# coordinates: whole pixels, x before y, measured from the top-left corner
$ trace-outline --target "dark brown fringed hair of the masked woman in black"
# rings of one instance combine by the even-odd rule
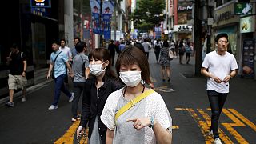
[[[117,74],[114,73],[114,70],[112,68],[111,64],[111,58],[110,58],[110,52],[109,50],[105,48],[96,48],[92,51],[90,51],[90,54],[88,55],[89,61],[94,58],[95,60],[101,60],[102,62],[109,61],[109,65],[106,66],[106,72],[104,78],[117,78]],[[90,74],[92,75],[92,74]]]

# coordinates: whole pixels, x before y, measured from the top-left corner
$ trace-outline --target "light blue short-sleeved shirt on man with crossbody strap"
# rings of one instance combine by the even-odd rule
[[[61,54],[58,54],[60,52],[61,51],[58,50],[50,54],[50,62],[54,64],[54,78],[57,78],[62,74],[66,74],[66,62],[68,62],[68,58],[63,52]],[[57,54],[58,57],[54,63],[54,59],[56,58]]]

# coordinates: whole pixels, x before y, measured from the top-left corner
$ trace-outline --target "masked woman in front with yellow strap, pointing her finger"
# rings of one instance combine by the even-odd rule
[[[126,85],[110,94],[101,119],[107,144],[171,143],[172,120],[162,96],[147,88],[150,70],[145,54],[128,47],[118,56],[116,70]]]

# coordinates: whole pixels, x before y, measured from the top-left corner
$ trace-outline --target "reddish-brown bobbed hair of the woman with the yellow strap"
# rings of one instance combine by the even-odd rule
[[[150,66],[146,58],[146,55],[135,46],[127,46],[125,50],[122,50],[119,54],[115,69],[119,75],[121,65],[138,65],[142,70],[142,80],[147,84],[152,83],[150,80]]]

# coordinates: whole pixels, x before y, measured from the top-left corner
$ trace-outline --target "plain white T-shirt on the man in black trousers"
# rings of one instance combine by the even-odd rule
[[[231,70],[238,69],[238,64],[233,54],[226,52],[224,55],[219,55],[214,50],[209,54],[206,54],[206,58],[202,62],[202,67],[208,69],[210,74],[214,74],[221,80],[226,75],[230,74]],[[229,82],[217,83],[214,78],[207,78],[207,90],[215,90],[218,93],[229,93]]]

